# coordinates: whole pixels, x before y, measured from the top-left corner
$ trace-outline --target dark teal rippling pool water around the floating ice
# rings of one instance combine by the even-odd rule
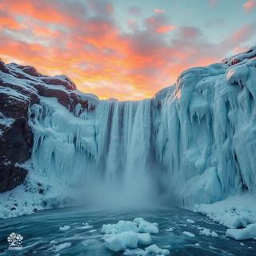
[[[102,241],[101,228],[106,223],[116,223],[119,220],[133,220],[136,217],[145,218],[149,222],[157,222],[159,234],[152,235],[153,243],[170,250],[170,255],[256,255],[256,241],[240,242],[226,238],[226,229],[211,222],[201,214],[179,208],[159,210],[130,210],[126,212],[114,210],[86,210],[84,208],[62,208],[43,210],[33,215],[11,218],[0,221],[0,254],[1,255],[68,255],[68,256],[118,256],[106,248]],[[194,220],[194,224],[186,219]],[[84,230],[82,223],[93,227]],[[70,230],[60,231],[60,226],[70,226]],[[198,226],[209,228],[218,234],[218,238],[199,234]],[[166,229],[172,227],[173,232]],[[96,230],[91,232],[90,230]],[[182,234],[189,231],[194,238]],[[23,236],[22,250],[8,250],[7,237],[15,232]],[[56,245],[70,242],[71,246],[56,251]],[[199,243],[199,245],[195,245]]]

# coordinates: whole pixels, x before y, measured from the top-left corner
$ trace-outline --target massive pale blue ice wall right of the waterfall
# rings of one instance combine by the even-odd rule
[[[164,101],[156,154],[178,203],[255,191],[256,70],[247,62],[186,70]]]

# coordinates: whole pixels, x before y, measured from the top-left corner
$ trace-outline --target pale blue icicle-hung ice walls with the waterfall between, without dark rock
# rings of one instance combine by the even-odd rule
[[[101,186],[99,197],[122,190],[126,201],[150,198],[154,190],[186,206],[253,193],[253,60],[186,70],[152,99],[98,101],[92,112],[76,106],[70,113],[41,97],[31,107],[33,164],[69,186]]]

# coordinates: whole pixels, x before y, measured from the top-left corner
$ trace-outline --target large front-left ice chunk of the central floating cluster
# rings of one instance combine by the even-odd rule
[[[124,231],[119,234],[106,234],[104,239],[107,248],[113,251],[137,248],[138,246],[138,236],[134,231]]]

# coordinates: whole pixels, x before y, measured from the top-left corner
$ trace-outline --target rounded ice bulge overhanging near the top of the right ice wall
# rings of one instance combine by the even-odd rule
[[[231,66],[226,71],[226,80],[230,84],[238,83],[244,85],[249,74],[249,68],[246,64]]]

